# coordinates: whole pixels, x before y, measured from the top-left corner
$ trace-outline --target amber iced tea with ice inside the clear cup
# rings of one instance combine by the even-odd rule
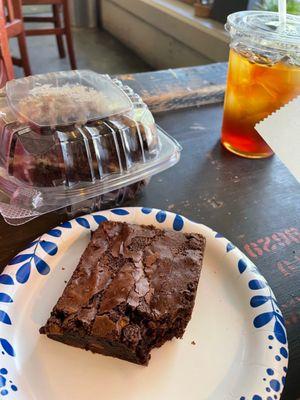
[[[223,145],[251,158],[273,154],[255,124],[300,95],[299,66],[257,61],[231,49],[222,128]]]

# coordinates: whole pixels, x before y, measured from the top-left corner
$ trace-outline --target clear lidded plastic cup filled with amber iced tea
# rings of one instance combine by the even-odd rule
[[[255,130],[263,120],[300,95],[300,16],[242,11],[228,16],[232,42],[224,103],[222,144],[248,158],[273,154]]]

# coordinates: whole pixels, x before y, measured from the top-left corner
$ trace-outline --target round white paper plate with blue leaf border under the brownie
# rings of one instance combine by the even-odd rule
[[[152,351],[148,367],[39,334],[105,219],[199,232],[207,248],[183,339]],[[30,274],[29,274],[30,273]],[[274,294],[221,235],[179,215],[122,208],[64,223],[31,243],[0,275],[0,394],[12,400],[279,399],[287,340]]]

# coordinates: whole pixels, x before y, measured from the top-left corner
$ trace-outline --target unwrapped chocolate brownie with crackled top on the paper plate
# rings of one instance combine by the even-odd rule
[[[148,364],[191,318],[205,238],[104,222],[40,332],[51,339]]]

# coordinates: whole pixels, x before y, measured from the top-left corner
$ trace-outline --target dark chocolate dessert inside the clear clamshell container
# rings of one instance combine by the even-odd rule
[[[147,135],[145,129],[124,116],[89,122],[80,128],[66,126],[53,130],[35,127],[23,132],[24,129],[16,127],[7,150],[8,173],[25,185],[41,189],[67,189],[100,182],[109,175],[129,171],[135,163],[144,163],[155,157],[159,145],[155,135]],[[151,136],[148,143],[147,137]],[[88,152],[83,137],[88,140]],[[68,143],[67,148],[64,148],[64,142]],[[122,205],[135,198],[145,185],[144,179],[62,211],[74,217]]]

